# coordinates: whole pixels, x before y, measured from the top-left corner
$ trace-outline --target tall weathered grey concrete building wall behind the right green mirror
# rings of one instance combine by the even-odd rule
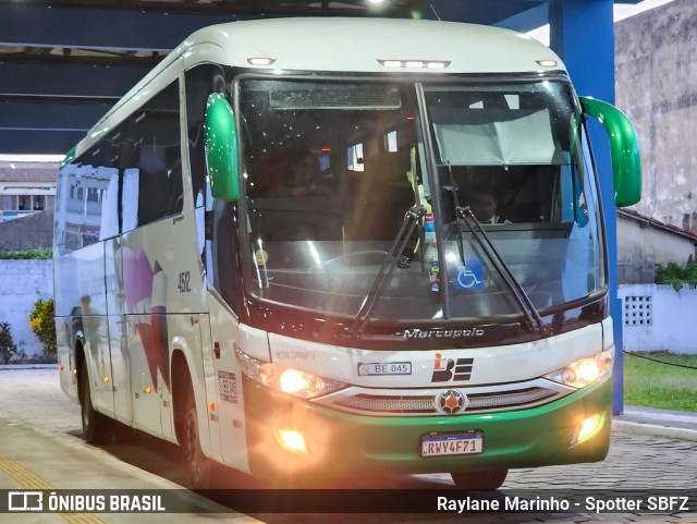
[[[634,209],[697,231],[697,2],[622,20],[614,41],[615,103],[641,142],[644,186]]]

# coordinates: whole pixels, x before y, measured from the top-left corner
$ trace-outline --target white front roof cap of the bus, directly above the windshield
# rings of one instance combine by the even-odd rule
[[[449,61],[442,70],[447,73],[549,71],[540,60],[564,69],[559,57],[527,35],[456,22],[268,19],[206,27],[184,44],[200,42],[224,48],[229,65],[249,66],[249,58],[270,58],[272,68],[295,71],[389,71],[380,60]]]

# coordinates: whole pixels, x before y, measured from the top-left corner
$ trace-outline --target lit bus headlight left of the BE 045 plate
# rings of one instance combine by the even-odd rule
[[[314,399],[346,387],[337,380],[254,358],[239,348],[235,348],[235,355],[242,373],[252,380],[302,399]]]

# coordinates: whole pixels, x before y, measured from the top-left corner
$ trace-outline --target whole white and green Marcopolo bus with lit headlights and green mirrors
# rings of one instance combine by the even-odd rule
[[[598,173],[613,107],[510,31],[377,19],[201,29],[68,155],[59,367],[114,421],[253,475],[602,460],[612,321]],[[609,174],[606,174],[609,175]]]

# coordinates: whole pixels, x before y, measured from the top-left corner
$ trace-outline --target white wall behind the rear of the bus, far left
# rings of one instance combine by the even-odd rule
[[[44,345],[29,326],[29,312],[39,296],[53,296],[52,260],[0,260],[0,321],[10,322],[12,339],[27,356]]]

